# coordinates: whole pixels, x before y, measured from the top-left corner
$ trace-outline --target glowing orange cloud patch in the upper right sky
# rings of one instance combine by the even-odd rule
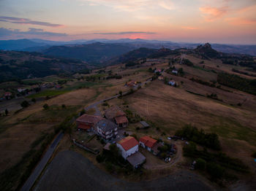
[[[216,20],[227,13],[227,7],[200,7],[199,9],[206,21]]]

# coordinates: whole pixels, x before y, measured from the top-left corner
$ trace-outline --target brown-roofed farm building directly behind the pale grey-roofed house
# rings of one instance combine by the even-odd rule
[[[109,109],[107,109],[105,112],[105,117],[108,120],[116,122],[120,128],[126,128],[128,126],[127,115],[118,106],[111,106]]]

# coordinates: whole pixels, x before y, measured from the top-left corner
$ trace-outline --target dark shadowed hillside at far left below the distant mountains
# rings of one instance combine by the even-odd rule
[[[54,58],[37,52],[0,51],[0,82],[86,70],[84,61]]]

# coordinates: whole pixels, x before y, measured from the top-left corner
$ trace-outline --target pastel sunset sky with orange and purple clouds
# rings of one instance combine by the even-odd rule
[[[0,0],[0,39],[256,44],[256,0]]]

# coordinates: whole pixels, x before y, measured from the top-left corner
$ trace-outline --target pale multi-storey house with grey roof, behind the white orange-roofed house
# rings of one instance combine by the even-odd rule
[[[114,122],[106,119],[100,120],[96,125],[97,134],[105,141],[116,139],[117,128],[118,126]]]

